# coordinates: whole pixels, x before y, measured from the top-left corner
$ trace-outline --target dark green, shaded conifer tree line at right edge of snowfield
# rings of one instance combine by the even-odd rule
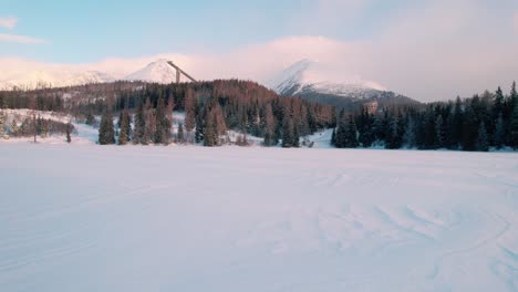
[[[470,98],[369,113],[340,112],[332,145],[338,148],[384,146],[387,149],[459,149],[487,152],[518,147],[518,94],[498,87]]]

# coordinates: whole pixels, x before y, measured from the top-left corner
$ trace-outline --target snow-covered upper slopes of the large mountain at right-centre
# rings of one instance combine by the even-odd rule
[[[268,86],[282,95],[317,92],[358,98],[385,91],[383,86],[373,81],[366,81],[310,60],[301,60],[287,67],[270,80]]]

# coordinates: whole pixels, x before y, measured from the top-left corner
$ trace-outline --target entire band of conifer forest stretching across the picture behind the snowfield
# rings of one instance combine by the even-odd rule
[[[64,88],[0,92],[2,108],[69,113],[99,127],[99,144],[229,144],[228,131],[262,138],[263,146],[311,147],[302,139],[332,129],[338,148],[480,150],[518,147],[516,83],[449,102],[345,111],[279,96],[248,81],[182,84],[115,82]],[[185,118],[172,132],[173,111]],[[114,118],[118,117],[118,118]],[[114,124],[114,121],[116,122]],[[44,127],[43,127],[44,128]],[[3,129],[11,132],[9,125]],[[18,129],[17,129],[18,131]],[[41,129],[40,129],[41,132]]]

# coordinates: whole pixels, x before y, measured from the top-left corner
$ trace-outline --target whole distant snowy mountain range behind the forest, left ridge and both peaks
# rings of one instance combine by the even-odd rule
[[[64,87],[116,80],[168,84],[176,81],[176,70],[167,64],[167,60],[162,59],[122,79],[99,71],[83,73],[32,71],[0,80],[0,90]],[[312,102],[352,111],[366,104],[375,108],[418,104],[410,97],[387,91],[376,82],[346,74],[343,70],[333,70],[311,60],[296,62],[273,76],[266,85],[280,95],[301,96]]]

